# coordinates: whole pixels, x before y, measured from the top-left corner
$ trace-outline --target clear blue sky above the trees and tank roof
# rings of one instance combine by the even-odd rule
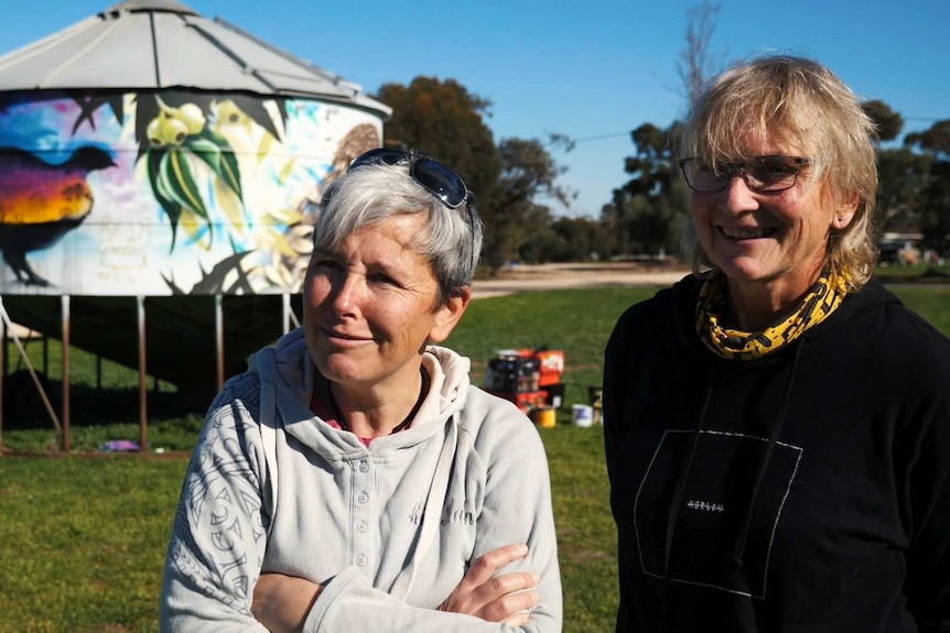
[[[557,214],[598,218],[626,182],[629,131],[666,127],[684,101],[677,61],[699,0],[185,0],[360,84],[454,78],[493,101],[496,140],[566,134],[552,155],[579,193]],[[3,0],[0,53],[110,8],[97,0]],[[863,98],[900,112],[905,132],[950,119],[947,0],[721,0],[712,50],[724,61],[762,52],[829,65]],[[476,192],[477,193],[477,192]]]

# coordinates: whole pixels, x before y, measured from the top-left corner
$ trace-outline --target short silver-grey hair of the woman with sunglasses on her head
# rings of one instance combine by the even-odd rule
[[[482,257],[482,219],[474,196],[451,209],[409,175],[409,164],[367,164],[336,178],[316,205],[314,250],[337,248],[355,231],[400,215],[425,214],[414,248],[439,282],[439,305],[472,285]]]

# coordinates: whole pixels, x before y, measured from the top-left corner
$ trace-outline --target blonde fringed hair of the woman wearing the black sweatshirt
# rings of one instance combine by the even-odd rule
[[[825,254],[832,271],[845,273],[859,290],[874,272],[874,205],[877,195],[877,139],[857,96],[830,69],[788,55],[753,58],[726,70],[693,101],[682,129],[681,159],[716,163],[741,155],[749,134],[801,146],[809,177],[828,185],[836,199],[856,196],[851,223],[832,231]],[[682,250],[693,271],[711,268],[691,220]]]

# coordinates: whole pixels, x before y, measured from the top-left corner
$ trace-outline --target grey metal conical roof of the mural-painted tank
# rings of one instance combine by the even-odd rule
[[[237,90],[352,103],[361,87],[176,0],[128,0],[0,57],[0,91]]]

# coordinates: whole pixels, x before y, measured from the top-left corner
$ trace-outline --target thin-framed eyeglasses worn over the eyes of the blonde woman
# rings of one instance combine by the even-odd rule
[[[683,159],[680,170],[694,192],[722,192],[733,178],[740,177],[753,192],[774,194],[794,187],[801,168],[809,163],[811,159],[799,156],[758,156],[745,163],[713,166],[704,159]]]

